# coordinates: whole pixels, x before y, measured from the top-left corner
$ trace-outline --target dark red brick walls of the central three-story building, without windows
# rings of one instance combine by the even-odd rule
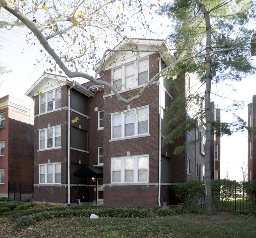
[[[160,55],[148,55],[148,75],[151,79],[159,72]],[[128,62],[127,62],[128,63]],[[112,69],[107,68],[104,71],[104,80],[111,83]],[[47,74],[42,80],[47,80]],[[37,85],[32,89],[30,96],[35,100],[35,131],[34,131],[34,155],[35,155],[35,201],[49,201],[52,203],[68,203],[68,92],[72,85],[72,81],[67,79],[61,84],[61,108],[49,111],[48,113],[39,114],[39,95],[36,95]],[[177,182],[185,182],[188,180],[200,180],[200,165],[204,165],[204,156],[200,153],[200,142],[195,142],[193,146],[189,146],[186,152],[179,155],[173,154],[173,148],[182,146],[187,141],[195,140],[197,131],[184,132],[178,138],[174,145],[167,145],[160,148],[160,101],[161,93],[164,93],[165,105],[163,110],[171,104],[172,100],[178,96],[180,92],[172,90],[173,95],[168,95],[164,90],[161,91],[159,81],[156,80],[149,85],[143,92],[139,100],[132,101],[126,105],[117,100],[115,95],[111,93],[108,87],[99,86],[98,89],[93,88],[91,82],[82,85],[84,89],[74,87],[71,89],[70,100],[72,102],[72,92],[80,91],[88,97],[88,114],[83,115],[77,113],[71,107],[70,118],[79,118],[78,122],[72,124],[76,127],[88,132],[88,151],[79,149],[70,149],[70,203],[75,203],[76,199],[84,204],[95,204],[96,180],[92,177],[79,177],[78,186],[77,178],[73,177],[75,168],[80,165],[89,165],[94,168],[104,168],[103,185],[104,205],[142,205],[152,207],[158,205],[169,206],[174,201],[171,186]],[[185,87],[185,84],[183,85]],[[56,87],[57,88],[57,87]],[[95,92],[95,95],[89,95],[88,89]],[[50,89],[49,89],[50,90]],[[84,90],[84,92],[83,92]],[[86,91],[87,90],[87,91]],[[184,89],[185,90],[185,89]],[[47,93],[47,90],[45,90]],[[137,90],[125,90],[121,92],[121,96],[129,98],[135,94]],[[72,104],[72,103],[71,103]],[[111,138],[111,114],[123,112],[129,109],[137,109],[139,107],[148,108],[148,133],[145,135],[137,135],[133,137]],[[162,109],[160,109],[162,110]],[[104,111],[104,127],[98,128],[98,115],[100,111]],[[180,120],[186,120],[186,115]],[[61,147],[51,149],[39,149],[39,131],[48,127],[61,126]],[[72,141],[72,138],[71,138]],[[98,164],[98,148],[104,148],[104,164]],[[161,151],[161,152],[160,152]],[[143,183],[114,183],[111,180],[111,160],[115,158],[139,157],[148,158],[147,175],[148,181]],[[190,171],[187,173],[187,159],[190,159]],[[160,166],[161,159],[161,169]],[[44,184],[39,181],[39,165],[49,163],[61,163],[61,183]],[[196,164],[198,163],[198,175],[196,174]],[[159,191],[159,176],[161,174],[161,188]],[[135,171],[136,172],[136,171]],[[160,192],[160,197],[159,197]],[[102,200],[98,199],[102,203]]]

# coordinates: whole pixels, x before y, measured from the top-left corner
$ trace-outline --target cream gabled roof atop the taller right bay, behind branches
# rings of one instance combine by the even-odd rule
[[[161,59],[165,62],[165,64],[168,66],[171,63],[173,63],[176,59],[169,50],[169,46],[165,42],[165,40],[155,40],[155,39],[124,39],[122,42],[120,42],[113,50],[141,50],[139,54],[139,57],[143,57],[146,54],[154,54],[154,52],[159,52]],[[127,59],[128,55],[131,55],[131,51],[126,51],[125,58]],[[98,70],[100,67],[100,75],[104,75],[104,70],[107,70],[108,68],[113,68],[113,59],[118,59],[122,55],[122,52],[109,52],[104,61],[104,66],[100,66],[100,62],[97,63],[93,69],[95,71]],[[133,53],[133,55],[135,55]],[[136,56],[137,57],[137,56]],[[111,65],[111,66],[110,66]]]

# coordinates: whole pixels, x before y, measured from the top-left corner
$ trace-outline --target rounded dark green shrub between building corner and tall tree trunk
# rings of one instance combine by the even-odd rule
[[[178,183],[173,187],[175,196],[178,197],[185,208],[194,207],[204,195],[204,184],[202,181],[187,181]]]

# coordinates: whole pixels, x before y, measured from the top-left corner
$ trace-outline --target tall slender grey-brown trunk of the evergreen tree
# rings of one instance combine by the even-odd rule
[[[206,25],[206,53],[211,52],[211,22],[210,12],[200,1],[196,1],[200,11],[204,14]],[[205,119],[206,119],[206,143],[205,143],[205,184],[206,184],[206,216],[213,216],[212,196],[211,196],[211,56],[205,57],[206,66],[206,89],[205,89]]]

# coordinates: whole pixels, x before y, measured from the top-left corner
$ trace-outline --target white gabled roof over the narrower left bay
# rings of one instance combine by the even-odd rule
[[[51,83],[54,82],[54,83]],[[54,85],[53,85],[54,84]],[[71,80],[67,76],[60,76],[56,74],[49,74],[44,72],[44,74],[34,83],[34,85],[25,93],[26,96],[33,97],[38,94],[37,91],[47,92],[49,91],[49,87],[60,87],[63,85],[72,86],[74,85],[74,89],[78,92],[81,92],[82,94],[91,97],[95,94],[91,92],[89,89],[83,87],[79,83],[76,83],[75,81]]]

